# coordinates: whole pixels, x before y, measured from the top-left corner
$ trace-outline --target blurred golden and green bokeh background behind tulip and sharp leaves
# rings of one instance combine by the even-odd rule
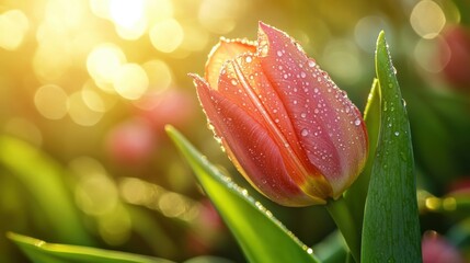
[[[295,37],[362,110],[386,31],[411,118],[422,230],[434,237],[423,244],[470,259],[470,213],[456,209],[470,199],[469,1],[2,0],[0,262],[26,261],[7,231],[244,262],[165,124],[306,244],[325,238],[334,225],[323,207],[279,207],[240,180],[187,77],[204,73],[220,36],[255,39],[257,21]]]

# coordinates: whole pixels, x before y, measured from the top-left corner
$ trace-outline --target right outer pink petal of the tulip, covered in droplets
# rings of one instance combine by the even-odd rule
[[[310,162],[339,195],[355,180],[367,156],[360,113],[313,59],[285,33],[260,23],[259,55],[285,105]]]

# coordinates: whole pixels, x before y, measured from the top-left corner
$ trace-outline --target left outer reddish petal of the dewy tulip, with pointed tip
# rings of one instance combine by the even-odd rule
[[[293,170],[289,167],[291,163],[285,163],[283,151],[263,125],[237,103],[211,90],[204,79],[194,77],[194,80],[200,103],[216,135],[220,137],[234,165],[253,186],[283,205],[325,203],[325,196],[321,196],[323,193],[316,193],[314,197],[303,194],[294,181],[293,173],[287,172]]]

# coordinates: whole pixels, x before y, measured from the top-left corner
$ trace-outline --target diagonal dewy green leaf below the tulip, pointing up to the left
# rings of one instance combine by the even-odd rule
[[[249,262],[318,262],[260,202],[210,164],[176,129],[167,126],[204,191],[232,231]]]

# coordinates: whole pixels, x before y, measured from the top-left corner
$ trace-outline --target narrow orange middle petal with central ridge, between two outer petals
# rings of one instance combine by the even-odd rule
[[[309,162],[298,144],[286,108],[262,71],[259,57],[243,54],[227,61],[218,87],[218,92],[256,119],[278,146],[284,146],[284,162],[296,171],[290,172],[290,176],[306,193],[331,195],[330,184],[317,167]]]

